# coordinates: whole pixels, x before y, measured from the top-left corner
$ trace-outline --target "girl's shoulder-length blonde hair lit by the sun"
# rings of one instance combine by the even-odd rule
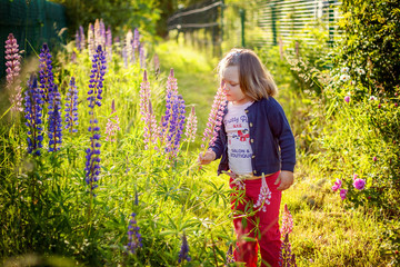
[[[232,49],[218,65],[219,78],[228,67],[239,67],[239,83],[242,92],[254,101],[278,93],[272,76],[250,49]]]

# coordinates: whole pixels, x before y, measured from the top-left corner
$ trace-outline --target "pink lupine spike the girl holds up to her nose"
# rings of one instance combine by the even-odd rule
[[[227,97],[224,96],[222,88],[223,86],[221,83],[214,96],[207,127],[203,132],[203,144],[201,145],[201,148],[207,148],[206,145],[212,146],[217,140],[218,131],[222,123],[223,110],[227,106]]]

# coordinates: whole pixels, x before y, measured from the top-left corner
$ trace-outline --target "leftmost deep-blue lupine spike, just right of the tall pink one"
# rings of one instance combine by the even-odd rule
[[[28,81],[28,90],[24,92],[24,118],[28,130],[28,152],[40,156],[40,148],[42,147],[42,105],[43,99],[38,88],[38,79],[31,75]]]

